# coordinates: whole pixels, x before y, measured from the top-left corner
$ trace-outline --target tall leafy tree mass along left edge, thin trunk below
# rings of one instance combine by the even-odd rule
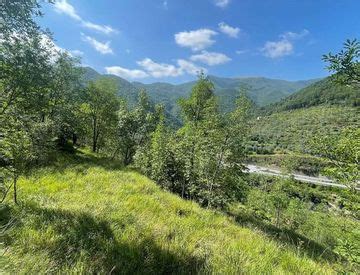
[[[37,1],[5,1],[1,14],[0,169],[1,178],[10,171],[16,201],[17,178],[44,162],[57,137],[71,128],[66,118],[76,102],[78,74],[75,61],[57,52],[35,22]]]

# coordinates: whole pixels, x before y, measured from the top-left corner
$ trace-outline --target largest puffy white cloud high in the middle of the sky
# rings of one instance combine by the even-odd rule
[[[193,51],[203,50],[215,43],[212,39],[217,32],[209,29],[183,31],[175,34],[175,41],[182,47],[191,48]]]

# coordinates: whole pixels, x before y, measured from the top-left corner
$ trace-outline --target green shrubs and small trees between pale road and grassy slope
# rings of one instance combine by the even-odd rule
[[[348,271],[356,273],[360,248],[356,194],[265,176],[252,176],[249,182],[253,186],[244,207],[235,204],[230,209],[243,225],[287,240],[310,255],[345,259]]]

